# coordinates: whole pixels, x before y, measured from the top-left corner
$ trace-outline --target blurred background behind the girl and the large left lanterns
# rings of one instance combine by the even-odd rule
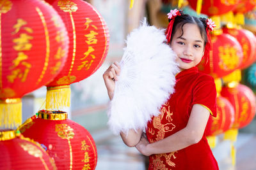
[[[218,120],[209,120],[207,132],[220,169],[256,169],[256,1],[202,1],[201,10],[196,9],[197,1],[192,0],[134,0],[131,9],[131,1],[128,0],[87,2],[99,11],[108,25],[108,55],[102,66],[90,77],[70,85],[71,106],[64,110],[71,120],[83,125],[92,134],[98,153],[97,170],[147,169],[147,157],[143,157],[135,148],[125,146],[120,136],[114,136],[108,129],[109,98],[102,74],[111,63],[120,61],[127,34],[140,25],[143,17],[147,17],[150,25],[166,28],[166,14],[178,5],[184,13],[212,18],[217,25],[216,32],[212,34],[214,59],[209,61],[209,70],[204,67],[201,70],[214,76],[219,89],[218,114],[227,115],[218,117]],[[199,12],[196,13],[196,10]],[[247,37],[244,32],[237,32],[241,29],[250,31]],[[225,37],[226,40],[223,40],[223,34],[233,38],[228,35],[229,39]],[[241,50],[240,53],[233,49],[235,45],[241,45],[237,48]],[[241,53],[247,58],[243,59]],[[243,94],[246,91],[241,87],[243,85],[253,97]],[[237,91],[230,92],[230,89]],[[45,93],[46,87],[42,87],[22,97],[22,122],[45,108]],[[234,96],[241,102],[234,101]]]

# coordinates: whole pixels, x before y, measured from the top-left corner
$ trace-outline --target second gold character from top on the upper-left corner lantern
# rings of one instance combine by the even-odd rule
[[[30,50],[32,47],[32,44],[29,43],[30,39],[33,39],[33,36],[24,33],[20,34],[19,38],[13,39],[13,43],[16,44],[13,48],[17,51]]]

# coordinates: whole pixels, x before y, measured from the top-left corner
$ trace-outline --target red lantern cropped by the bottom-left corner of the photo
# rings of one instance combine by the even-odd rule
[[[38,143],[14,131],[0,131],[0,153],[0,169],[56,169]]]

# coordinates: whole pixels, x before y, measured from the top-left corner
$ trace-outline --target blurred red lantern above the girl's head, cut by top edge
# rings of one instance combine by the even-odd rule
[[[234,1],[222,1],[222,0],[203,0],[202,1],[202,10],[201,13],[206,15],[221,15],[223,13],[227,13],[228,11],[232,11],[236,8],[237,4],[240,3],[241,0]],[[198,0],[188,0],[191,8],[196,10]]]

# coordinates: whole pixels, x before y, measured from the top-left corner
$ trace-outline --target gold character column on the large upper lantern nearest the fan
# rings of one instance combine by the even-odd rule
[[[91,23],[93,22],[90,18],[85,18],[86,22],[84,23],[85,25],[85,30],[92,28],[90,30],[90,33],[84,35],[86,37],[86,44],[88,45],[88,50],[84,52],[84,57],[81,58],[82,60],[81,64],[77,67],[77,70],[85,69],[88,70],[92,66],[93,60],[95,59],[95,55],[93,55],[93,52],[95,51],[92,45],[96,45],[98,39],[96,36],[99,34],[97,32],[97,27],[95,25],[92,25]],[[90,56],[90,57],[89,57]]]

